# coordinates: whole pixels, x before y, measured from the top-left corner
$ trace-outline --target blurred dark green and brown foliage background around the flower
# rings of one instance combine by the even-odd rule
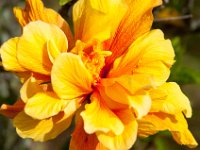
[[[43,0],[46,7],[59,11],[67,20],[73,0]],[[13,15],[13,7],[24,6],[24,0],[0,0],[0,45],[11,37],[19,36],[21,29]],[[65,5],[64,5],[65,4]],[[67,11],[69,10],[69,11]],[[175,53],[169,81],[178,82],[189,97],[193,116],[188,119],[189,129],[200,143],[200,0],[165,0],[154,10],[152,28],[160,28],[171,39]],[[0,66],[0,105],[13,104],[19,97],[21,84],[18,78]],[[178,105],[178,104],[177,104]],[[11,120],[0,115],[0,150],[66,150],[70,133],[64,132],[55,140],[45,143],[21,139],[17,136]],[[132,150],[187,150],[176,144],[165,131],[146,139],[138,139]],[[200,146],[195,148],[200,150]]]

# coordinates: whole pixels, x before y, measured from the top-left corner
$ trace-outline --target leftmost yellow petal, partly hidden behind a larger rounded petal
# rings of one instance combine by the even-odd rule
[[[3,67],[7,71],[23,72],[26,71],[17,60],[17,43],[19,38],[12,38],[5,42],[0,49]]]

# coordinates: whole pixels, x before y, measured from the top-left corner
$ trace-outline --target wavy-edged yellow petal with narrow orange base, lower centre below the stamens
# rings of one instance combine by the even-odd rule
[[[86,133],[92,134],[97,131],[112,132],[119,135],[124,126],[120,119],[102,103],[98,93],[93,93],[91,103],[86,104],[85,111],[81,113]]]

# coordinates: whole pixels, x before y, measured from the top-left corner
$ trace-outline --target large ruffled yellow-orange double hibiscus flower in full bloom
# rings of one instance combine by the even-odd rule
[[[55,138],[76,113],[73,150],[129,149],[138,135],[162,130],[195,147],[182,114],[191,117],[189,100],[176,83],[166,83],[174,63],[171,42],[162,31],[150,31],[152,9],[160,4],[79,0],[73,42],[58,14],[27,0],[24,10],[15,9],[23,34],[6,42],[1,55],[5,69],[31,76],[21,89],[23,104],[3,105],[0,112],[11,114],[21,137],[37,141]]]

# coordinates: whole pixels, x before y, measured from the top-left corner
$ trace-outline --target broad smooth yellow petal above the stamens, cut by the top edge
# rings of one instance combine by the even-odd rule
[[[126,8],[122,0],[79,0],[73,7],[75,39],[87,43],[110,38]]]

